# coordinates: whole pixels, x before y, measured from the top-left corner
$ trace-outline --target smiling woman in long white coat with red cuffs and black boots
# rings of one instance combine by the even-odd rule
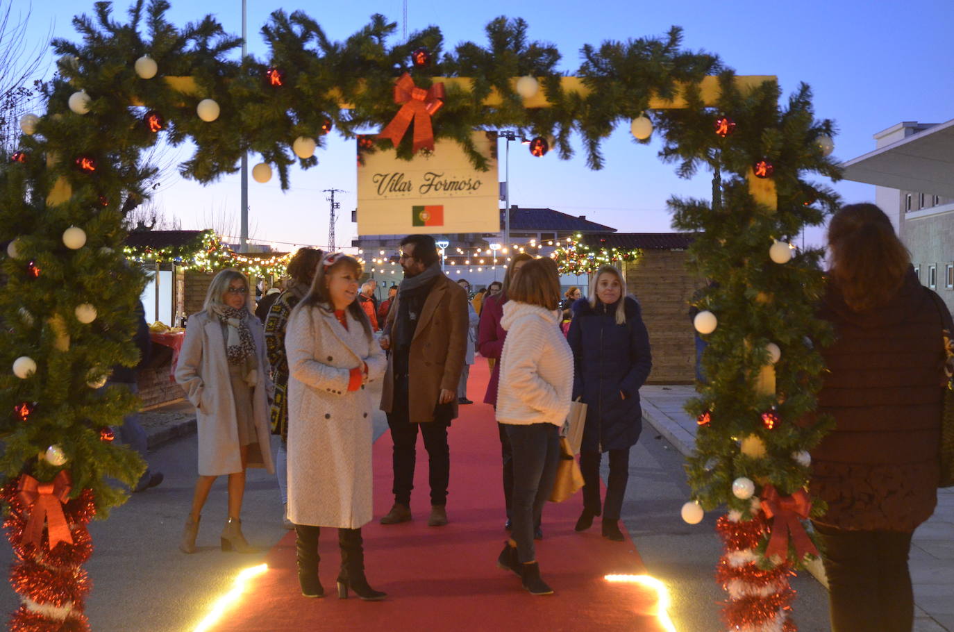
[[[288,519],[295,523],[301,594],[321,597],[318,538],[337,527],[338,597],[384,593],[364,578],[361,528],[370,522],[372,413],[365,386],[386,361],[358,296],[362,267],[333,253],[296,305],[285,332],[288,355]]]

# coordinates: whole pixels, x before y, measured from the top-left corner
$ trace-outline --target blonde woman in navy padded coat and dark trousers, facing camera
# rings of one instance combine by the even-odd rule
[[[624,295],[623,275],[604,265],[593,276],[590,298],[573,305],[567,341],[573,349],[573,399],[582,397],[587,421],[580,449],[583,513],[576,531],[603,516],[603,536],[622,541],[619,514],[630,476],[630,448],[642,430],[639,388],[653,368],[650,338],[639,304]],[[610,453],[606,503],[599,497],[599,464]]]

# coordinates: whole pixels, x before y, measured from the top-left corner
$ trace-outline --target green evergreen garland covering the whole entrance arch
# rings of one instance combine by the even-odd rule
[[[7,286],[0,293],[0,367],[11,367],[24,355],[38,367],[27,379],[0,371],[0,411],[8,411],[0,416],[0,473],[8,480],[24,472],[50,480],[66,468],[73,497],[90,490],[86,494],[92,494],[98,515],[105,516],[124,498],[107,477],[132,485],[143,471],[135,453],[102,441],[98,432],[135,410],[135,397],[118,390],[99,393],[87,384],[114,365],[134,366],[138,360],[131,315],[144,275],[123,261],[120,249],[122,209],[128,200],[148,197],[143,183],[156,173],[143,158],[158,137],[143,122],[146,112],[165,119],[159,134],[171,144],[194,142],[195,154],[180,165],[184,177],[214,181],[237,171],[241,155],[253,152],[277,167],[281,186],[287,188],[289,166],[318,163],[316,157],[294,155],[291,145],[297,137],[314,137],[321,147],[329,123],[344,137],[383,128],[400,109],[393,86],[406,72],[425,89],[434,77],[471,78],[469,90],[446,84],[444,107],[433,117],[433,126],[435,138],[456,140],[479,168],[486,169],[487,162],[471,144],[474,129],[508,127],[523,136],[553,137],[561,158],[572,155],[570,140],[577,133],[588,164],[598,169],[602,140],[621,121],[645,114],[663,139],[661,158],[677,163],[681,176],[700,168],[714,171],[712,203],[670,202],[675,226],[699,233],[690,249],[692,263],[714,282],[696,304],[714,311],[719,320],[706,337],[709,382],[699,387],[699,397],[688,407],[693,414],[709,411],[710,419],[699,429],[695,454],[687,462],[693,495],[706,509],[727,505],[738,524],[746,524],[749,518],[764,518],[750,501],[732,495],[736,477],[771,484],[781,495],[804,486],[809,473],[794,454],[817,444],[829,423],[812,416],[823,370],[817,348],[830,338],[812,311],[823,283],[821,253],[799,252],[790,263],[777,264],[769,260],[768,249],[774,240],[790,241],[805,226],[819,224],[839,202],[827,186],[807,179],[812,174],[839,177],[816,142],[819,135],[834,135],[833,124],[815,119],[807,86],[799,87],[784,107],[778,105],[780,91],[773,81],[740,91],[733,71],[715,55],[683,51],[681,31],[675,27],[663,38],[585,46],[576,75],[591,92],[580,95],[561,87],[560,53],[550,44],[530,41],[520,19],[492,21],[487,46],[466,42],[445,51],[436,27],[389,45],[396,25],[374,15],[361,31],[333,42],[301,11],[275,11],[261,30],[269,45],[267,58],[235,60],[231,57],[239,38],[225,33],[212,16],[177,29],[165,19],[168,9],[165,0],[148,5],[137,0],[129,21],[120,23],[110,3],[98,2],[92,17],[75,18],[82,42],[53,42],[63,57],[58,74],[43,85],[46,112],[36,134],[20,140],[25,161],[0,157],[0,241],[15,239],[17,251],[16,258],[2,263]],[[433,59],[423,68],[410,64],[410,53],[420,48]],[[135,74],[134,62],[143,54],[156,60],[155,78]],[[283,85],[265,80],[270,69],[283,72]],[[721,95],[716,108],[706,107],[695,82],[715,73]],[[524,107],[511,85],[521,75],[538,77],[550,107]],[[180,92],[182,82],[176,77],[191,77],[196,89]],[[688,107],[648,111],[653,95],[670,97],[680,89]],[[67,107],[78,90],[92,99],[86,115]],[[500,102],[488,105],[487,97],[494,93]],[[204,98],[214,98],[220,106],[213,122],[196,114]],[[350,109],[342,109],[342,103]],[[737,121],[735,134],[714,133],[719,114]],[[412,156],[410,136],[397,147],[401,158]],[[365,152],[390,144],[363,139]],[[77,158],[93,158],[96,170],[77,170]],[[759,205],[750,194],[752,165],[763,158],[775,165],[778,210]],[[69,200],[48,205],[48,196],[64,182],[72,189]],[[62,242],[63,231],[72,225],[82,227],[88,238],[77,250]],[[34,277],[37,268],[39,276]],[[87,303],[98,310],[91,325],[74,316],[75,307]],[[70,336],[66,350],[64,333]],[[768,363],[769,342],[781,348],[778,384],[775,393],[761,394],[757,383]],[[14,411],[23,402],[35,403],[26,420]],[[768,430],[761,414],[772,407],[778,423]],[[750,435],[762,439],[766,456],[740,452],[738,441]],[[63,449],[65,466],[37,458],[51,445]],[[813,512],[822,509],[816,504]],[[789,561],[798,562],[796,558],[792,554]],[[764,558],[757,562],[770,563]]]

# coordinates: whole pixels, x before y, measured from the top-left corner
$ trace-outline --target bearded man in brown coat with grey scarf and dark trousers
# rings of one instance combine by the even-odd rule
[[[401,242],[404,281],[387,314],[383,348],[391,353],[381,410],[394,441],[394,506],[382,524],[411,519],[418,427],[430,466],[431,512],[427,524],[447,523],[450,451],[447,428],[457,416],[457,384],[467,352],[467,292],[441,271],[429,235]],[[414,370],[411,370],[414,369]]]

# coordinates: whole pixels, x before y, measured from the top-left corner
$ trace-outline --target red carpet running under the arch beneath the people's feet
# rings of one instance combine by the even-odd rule
[[[487,387],[487,361],[470,370],[470,398]],[[384,526],[393,502],[391,441],[385,433],[374,447],[375,520],[363,529],[368,580],[387,600],[365,602],[335,596],[339,554],[337,532],[321,534],[321,583],[325,598],[301,597],[295,570],[295,535],[283,537],[267,558],[269,570],[215,627],[224,632],[293,630],[626,630],[662,631],[654,616],[655,590],[610,583],[610,573],[641,574],[633,542],[611,542],[597,519],[585,534],[573,532],[582,507],[580,493],[544,508],[544,539],[537,541],[543,577],[555,590],[529,595],[512,573],[496,567],[506,538],[501,491],[500,442],[493,409],[461,407],[450,428],[450,489],[445,527],[428,527],[427,456],[418,442],[414,520]]]

